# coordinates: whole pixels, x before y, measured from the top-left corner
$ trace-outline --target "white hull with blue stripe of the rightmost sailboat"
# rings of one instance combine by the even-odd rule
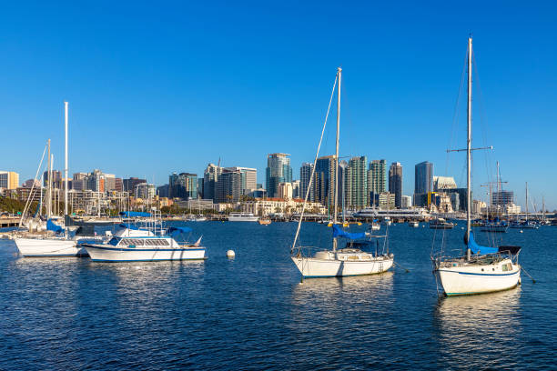
[[[441,267],[439,276],[446,296],[474,295],[508,290],[521,283],[521,266],[512,265],[511,270],[502,271],[505,259],[492,265]]]

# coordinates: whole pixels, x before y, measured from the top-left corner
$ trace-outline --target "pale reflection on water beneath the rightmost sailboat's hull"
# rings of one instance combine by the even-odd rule
[[[434,313],[444,366],[512,367],[522,332],[521,289],[478,296],[445,297]],[[504,363],[496,354],[508,355]]]

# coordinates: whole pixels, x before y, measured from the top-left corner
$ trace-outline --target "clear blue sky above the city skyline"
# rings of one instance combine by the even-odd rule
[[[33,177],[48,137],[63,167],[67,100],[71,173],[160,185],[220,157],[264,183],[266,155],[286,152],[298,178],[342,65],[342,155],[399,161],[406,195],[424,160],[461,183],[463,156],[447,163],[445,149],[463,145],[465,113],[456,131],[452,116],[473,33],[475,145],[495,147],[476,156],[476,193],[499,160],[521,204],[528,181],[557,208],[556,6],[387,3],[4,3],[0,169]],[[323,154],[333,148],[331,126]]]

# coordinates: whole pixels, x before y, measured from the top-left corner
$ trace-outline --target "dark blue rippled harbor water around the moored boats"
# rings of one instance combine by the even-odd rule
[[[24,259],[0,240],[0,369],[555,367],[557,227],[504,236],[536,284],[438,300],[427,227],[390,227],[410,273],[300,283],[295,224],[191,226],[205,262]],[[302,231],[314,245],[330,234]],[[460,248],[461,226],[445,237]]]

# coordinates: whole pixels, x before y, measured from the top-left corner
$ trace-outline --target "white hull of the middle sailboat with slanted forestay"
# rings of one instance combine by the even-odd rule
[[[386,272],[393,264],[393,258],[383,256],[376,260],[357,262],[299,256],[292,256],[292,260],[306,278],[374,275]]]

